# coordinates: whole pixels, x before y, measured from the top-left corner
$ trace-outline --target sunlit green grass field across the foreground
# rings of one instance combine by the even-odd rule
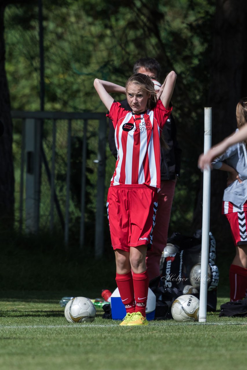
[[[1,370],[246,369],[246,318],[122,327],[98,310],[93,323],[70,324],[62,294],[0,292]]]

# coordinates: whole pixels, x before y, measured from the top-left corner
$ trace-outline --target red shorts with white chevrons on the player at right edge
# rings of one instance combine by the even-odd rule
[[[247,244],[247,211],[227,213],[235,246]]]

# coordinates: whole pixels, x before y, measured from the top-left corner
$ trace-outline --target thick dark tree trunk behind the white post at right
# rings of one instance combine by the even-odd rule
[[[247,1],[218,0],[215,16],[214,45],[209,105],[212,107],[212,145],[231,134],[236,128],[236,105],[247,95]],[[230,228],[221,215],[227,174],[211,172],[210,229],[220,248],[229,245]],[[202,221],[202,181],[194,213],[194,226]],[[230,239],[229,239],[230,238]]]

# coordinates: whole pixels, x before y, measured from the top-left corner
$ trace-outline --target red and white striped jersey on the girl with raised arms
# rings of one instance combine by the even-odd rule
[[[142,114],[126,111],[113,102],[107,117],[115,128],[118,149],[112,185],[146,184],[160,188],[160,142],[159,134],[171,114],[160,100],[152,110]]]

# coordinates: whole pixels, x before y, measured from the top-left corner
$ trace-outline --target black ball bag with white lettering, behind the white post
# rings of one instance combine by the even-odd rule
[[[216,262],[216,245],[214,236],[209,235],[208,295],[207,310],[215,311],[217,305],[217,287],[219,271]],[[167,240],[161,257],[161,282],[164,288],[177,288],[183,294],[192,294],[199,298],[201,282],[201,230],[193,236],[173,233]]]

